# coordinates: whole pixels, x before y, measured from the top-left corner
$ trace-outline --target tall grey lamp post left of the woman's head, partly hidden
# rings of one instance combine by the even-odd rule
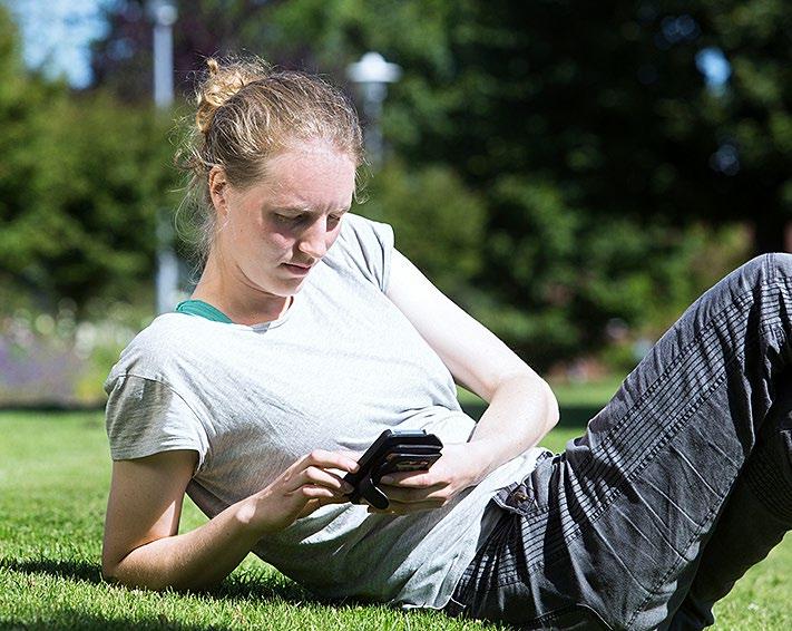
[[[164,111],[174,103],[173,26],[178,12],[174,0],[148,0],[148,14],[154,22],[154,104]],[[166,208],[158,208],[157,272],[155,278],[157,313],[173,309],[178,290],[178,259],[173,250],[173,227]]]

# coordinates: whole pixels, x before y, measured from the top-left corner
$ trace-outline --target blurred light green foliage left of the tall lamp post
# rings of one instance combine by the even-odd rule
[[[168,122],[119,107],[104,93],[26,74],[8,17],[0,11],[0,276],[6,308],[22,292],[41,309],[68,297],[146,291],[154,213],[172,203]]]

